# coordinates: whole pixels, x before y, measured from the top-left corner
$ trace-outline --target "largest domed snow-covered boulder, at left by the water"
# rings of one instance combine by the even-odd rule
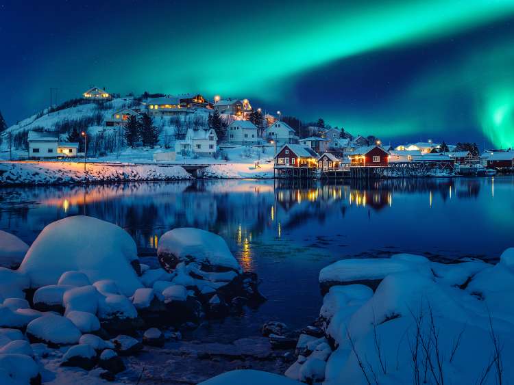
[[[19,271],[34,288],[57,284],[66,271],[79,271],[90,282],[113,280],[125,295],[142,287],[136,243],[119,226],[81,215],[43,228]]]

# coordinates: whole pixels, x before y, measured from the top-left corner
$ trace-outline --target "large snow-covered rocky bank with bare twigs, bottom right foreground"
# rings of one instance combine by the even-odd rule
[[[473,384],[494,354],[492,325],[501,341],[503,379],[514,378],[506,364],[514,360],[513,262],[514,249],[496,265],[473,259],[443,264],[408,254],[334,263],[323,269],[320,283],[345,286],[330,287],[319,321],[335,350],[302,347],[306,357],[299,356],[287,374],[326,385],[423,383],[423,373],[428,383],[437,377],[439,383]],[[375,292],[348,284],[368,280],[380,281]],[[434,373],[425,371],[429,361]],[[497,381],[493,364],[482,383]]]

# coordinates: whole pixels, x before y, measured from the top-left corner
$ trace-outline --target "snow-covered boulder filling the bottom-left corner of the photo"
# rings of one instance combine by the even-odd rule
[[[39,366],[25,354],[0,354],[0,384],[40,383]]]

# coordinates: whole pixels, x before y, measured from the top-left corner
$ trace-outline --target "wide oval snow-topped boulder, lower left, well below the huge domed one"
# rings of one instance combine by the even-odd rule
[[[30,321],[27,337],[32,342],[48,345],[71,345],[78,343],[82,333],[73,322],[60,315],[47,314]]]

